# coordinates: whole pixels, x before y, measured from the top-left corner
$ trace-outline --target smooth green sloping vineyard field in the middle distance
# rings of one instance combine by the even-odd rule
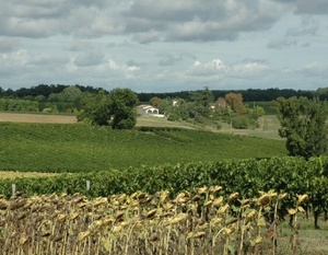
[[[0,123],[0,170],[36,172],[286,154],[282,140],[194,129],[110,130],[83,124]]]

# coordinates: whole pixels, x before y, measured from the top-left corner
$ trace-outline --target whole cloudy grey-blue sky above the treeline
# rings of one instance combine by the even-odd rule
[[[0,86],[328,86],[328,0],[0,0]]]

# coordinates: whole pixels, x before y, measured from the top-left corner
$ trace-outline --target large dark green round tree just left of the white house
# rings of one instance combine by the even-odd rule
[[[137,123],[137,94],[129,89],[115,89],[109,94],[101,91],[85,101],[78,119],[87,118],[93,125],[110,126],[114,129],[130,129]]]

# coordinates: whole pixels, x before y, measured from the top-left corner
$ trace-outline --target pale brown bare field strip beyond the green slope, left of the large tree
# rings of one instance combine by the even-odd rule
[[[77,121],[77,117],[46,114],[0,113],[0,121],[73,124]]]

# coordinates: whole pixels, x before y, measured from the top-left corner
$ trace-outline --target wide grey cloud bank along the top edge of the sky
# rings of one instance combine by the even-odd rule
[[[42,38],[129,35],[151,42],[236,39],[271,27],[284,4],[272,0],[24,0],[2,1],[0,34]]]

